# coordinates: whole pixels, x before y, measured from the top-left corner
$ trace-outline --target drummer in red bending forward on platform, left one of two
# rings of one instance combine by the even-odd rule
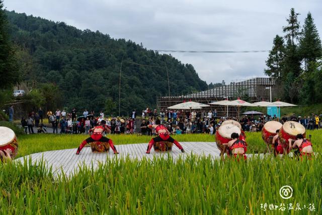
[[[93,132],[92,135],[82,142],[81,146],[79,146],[77,149],[76,155],[79,155],[79,153],[82,151],[82,149],[85,147],[86,144],[89,144],[90,142],[95,142],[95,141],[108,142],[114,154],[119,154],[116,151],[115,146],[113,145],[112,139],[109,139],[102,135],[104,131],[107,133],[111,133],[111,130],[107,127],[107,125],[105,125],[105,123],[106,123],[105,120],[102,120],[101,125],[96,126],[89,130],[90,133]]]

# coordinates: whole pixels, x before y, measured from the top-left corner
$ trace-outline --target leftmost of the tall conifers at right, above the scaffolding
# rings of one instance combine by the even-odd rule
[[[284,56],[285,46],[283,37],[276,35],[273,41],[273,48],[268,55],[268,59],[266,60],[268,69],[265,69],[264,73],[279,81],[282,75]]]

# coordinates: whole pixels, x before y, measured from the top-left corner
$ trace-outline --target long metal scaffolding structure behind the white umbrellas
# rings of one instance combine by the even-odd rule
[[[208,104],[214,101],[234,100],[238,97],[248,102],[270,101],[270,91],[266,88],[272,87],[272,94],[275,90],[275,81],[271,78],[253,78],[240,82],[232,82],[229,85],[223,85],[207,91],[193,93],[185,96],[162,96],[156,98],[158,110],[166,110],[172,105],[176,105],[185,101],[194,101]],[[235,107],[226,107],[220,105],[211,105],[205,107],[198,112],[208,112],[209,110],[217,111],[217,116],[226,116],[228,108],[228,116],[237,116]]]

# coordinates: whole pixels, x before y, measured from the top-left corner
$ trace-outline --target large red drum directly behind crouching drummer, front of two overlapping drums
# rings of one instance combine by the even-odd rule
[[[240,135],[240,128],[233,124],[222,124],[216,131],[216,144],[221,152],[224,149],[222,144],[227,144],[231,140],[232,133],[238,133],[238,135]]]

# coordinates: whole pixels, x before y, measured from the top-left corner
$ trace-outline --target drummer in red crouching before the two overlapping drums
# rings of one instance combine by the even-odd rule
[[[231,134],[231,139],[227,144],[222,144],[222,145],[227,145],[229,148],[230,154],[237,158],[238,156],[238,161],[239,157],[244,157],[244,160],[247,160],[247,157],[245,155],[247,151],[247,144],[244,140],[239,139],[238,133],[232,133]]]

